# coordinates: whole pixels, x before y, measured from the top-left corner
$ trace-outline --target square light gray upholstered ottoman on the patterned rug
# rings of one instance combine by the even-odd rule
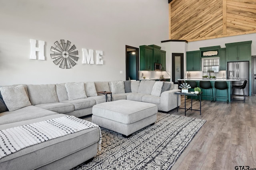
[[[155,104],[117,100],[92,107],[92,122],[129,137],[132,133],[154,124],[158,108]]]

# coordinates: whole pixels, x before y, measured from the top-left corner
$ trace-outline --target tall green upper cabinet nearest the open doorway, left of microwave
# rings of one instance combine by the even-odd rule
[[[153,70],[153,48],[140,46],[140,70]]]

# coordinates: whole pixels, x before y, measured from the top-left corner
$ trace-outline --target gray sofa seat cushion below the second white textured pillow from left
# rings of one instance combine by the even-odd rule
[[[96,101],[93,98],[83,98],[76,100],[64,100],[62,103],[69,103],[74,105],[75,110],[84,109],[87,107],[92,107],[96,104]]]

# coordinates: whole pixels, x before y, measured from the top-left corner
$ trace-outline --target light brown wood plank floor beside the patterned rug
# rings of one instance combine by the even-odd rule
[[[197,108],[199,102],[193,100],[193,109]],[[184,116],[184,109],[169,113]],[[202,115],[199,111],[188,111],[186,116],[204,119],[206,123],[172,170],[235,170],[235,166],[249,166],[256,170],[255,96],[246,97],[245,103],[202,100]]]

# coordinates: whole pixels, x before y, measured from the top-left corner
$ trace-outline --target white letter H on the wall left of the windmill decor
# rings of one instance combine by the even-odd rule
[[[38,41],[38,47],[36,47],[36,39],[30,39],[30,59],[36,60],[36,51],[39,53],[38,60],[45,60],[44,57],[44,41]]]

